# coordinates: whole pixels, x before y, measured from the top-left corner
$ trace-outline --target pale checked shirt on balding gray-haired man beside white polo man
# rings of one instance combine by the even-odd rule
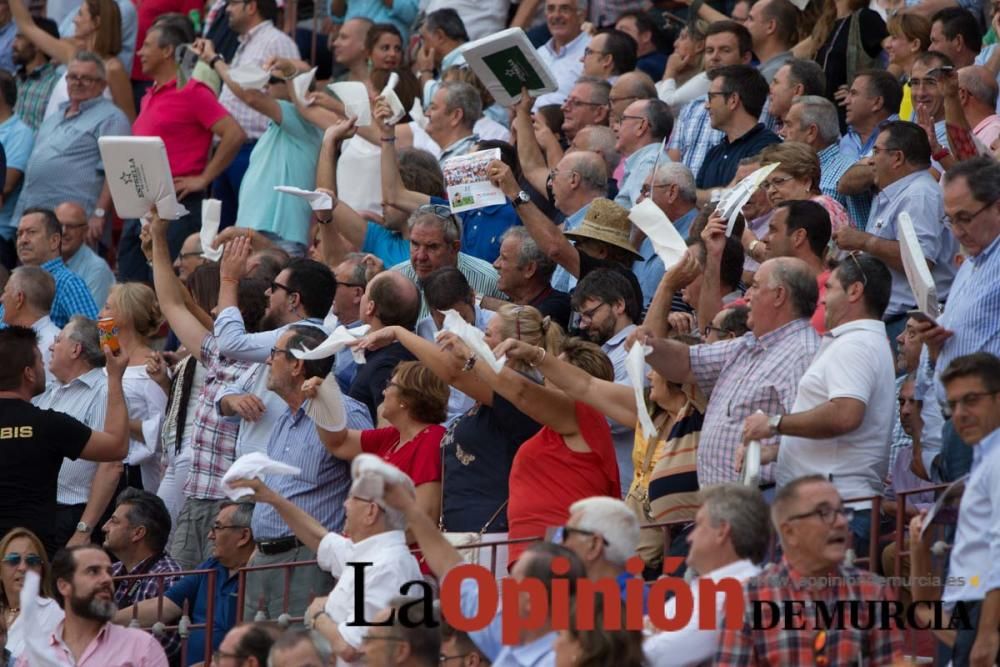
[[[799,380],[819,349],[819,340],[809,320],[801,319],[759,339],[748,333],[691,348],[691,370],[710,396],[698,445],[699,486],[737,481],[733,455],[743,441],[743,421],[757,410],[768,415],[791,412]],[[764,469],[765,479],[771,478],[773,469],[773,465]]]

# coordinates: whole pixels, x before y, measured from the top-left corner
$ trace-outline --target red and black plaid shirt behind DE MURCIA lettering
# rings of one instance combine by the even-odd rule
[[[876,575],[852,567],[840,566],[836,573],[829,575],[830,585],[822,588],[810,587],[798,572],[791,569],[787,560],[768,566],[756,577],[747,580],[746,613],[743,627],[738,630],[723,628],[719,650],[715,654],[716,665],[815,665],[817,658],[825,656],[829,667],[845,665],[890,665],[903,657],[902,632],[891,619],[886,620],[889,630],[857,628],[879,628],[882,619],[879,603],[895,600],[896,594]],[[801,615],[795,619],[782,617],[774,623],[770,605],[762,608],[762,618],[758,624],[769,627],[754,629],[754,602],[771,602],[783,605],[788,601],[798,601],[796,606]],[[817,627],[815,603],[822,602],[833,614],[834,604],[848,600],[861,600],[855,620],[851,619],[850,607],[844,605],[843,623],[833,616],[832,627]],[[869,608],[869,603],[872,605]],[[782,613],[784,607],[782,607]],[[872,619],[872,612],[876,619]],[[822,622],[822,621],[821,621]],[[786,623],[804,625],[804,630],[786,630]],[[852,627],[853,626],[853,627]],[[814,648],[820,632],[826,632],[825,650],[821,653]]]

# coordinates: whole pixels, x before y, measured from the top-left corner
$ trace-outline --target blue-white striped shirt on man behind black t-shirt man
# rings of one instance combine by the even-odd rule
[[[31,402],[39,408],[58,410],[86,424],[95,431],[104,430],[108,409],[108,378],[101,368],[92,368],[66,384],[49,385]],[[98,464],[83,459],[63,459],[59,469],[56,502],[60,505],[83,505],[90,498],[90,485]]]

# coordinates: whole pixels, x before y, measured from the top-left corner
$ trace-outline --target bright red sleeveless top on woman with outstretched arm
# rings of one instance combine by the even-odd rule
[[[524,441],[510,469],[507,519],[510,539],[544,537],[545,531],[569,519],[569,506],[591,496],[621,497],[618,461],[608,420],[584,403],[576,403],[576,421],[589,452],[575,452],[548,426]],[[512,544],[511,565],[525,543]]]

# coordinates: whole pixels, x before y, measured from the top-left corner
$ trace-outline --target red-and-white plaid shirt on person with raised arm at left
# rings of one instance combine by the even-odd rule
[[[236,459],[236,433],[239,421],[227,421],[215,403],[226,385],[247,371],[253,362],[232,361],[219,353],[215,336],[206,334],[201,343],[201,359],[207,373],[194,411],[191,434],[191,470],[184,483],[188,498],[221,500],[222,476]]]

